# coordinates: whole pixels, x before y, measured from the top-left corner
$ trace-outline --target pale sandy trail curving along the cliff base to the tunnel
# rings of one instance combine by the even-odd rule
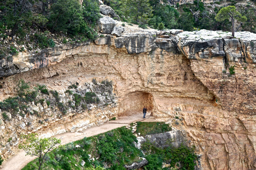
[[[150,115],[150,112],[147,113]],[[70,142],[83,139],[84,137],[91,137],[94,135],[98,135],[100,133],[104,133],[118,127],[126,126],[132,122],[142,121],[142,122],[155,122],[156,120],[146,116],[146,119],[142,119],[142,113],[136,113],[131,116],[119,117],[118,120],[111,120],[109,123],[104,123],[100,126],[93,126],[91,128],[87,128],[83,130],[83,132],[65,132],[58,135],[54,135],[52,137],[60,138],[61,145],[68,144]],[[112,123],[115,122],[115,123]],[[14,156],[7,159],[6,162],[3,163],[1,170],[21,170],[25,165],[27,165],[30,161],[36,159],[35,156],[26,156],[26,153],[23,150],[17,152]]]

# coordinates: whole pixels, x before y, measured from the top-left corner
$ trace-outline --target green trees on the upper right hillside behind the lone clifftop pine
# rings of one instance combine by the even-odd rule
[[[138,3],[140,4],[138,5]],[[160,0],[139,0],[136,2],[131,2],[130,0],[105,0],[104,4],[111,6],[124,22],[140,24],[140,26],[144,25],[144,27],[148,25],[155,29],[158,28],[160,23],[163,23],[167,29],[193,31],[195,27],[207,30],[230,31],[232,25],[228,18],[223,18],[221,21],[215,19],[223,6],[217,6],[213,9],[210,5],[205,6],[201,0],[195,0],[194,4],[177,3],[176,8],[168,5],[166,0],[161,2]],[[220,4],[220,2],[217,1],[215,4]],[[141,9],[141,6],[144,8]],[[140,10],[138,10],[139,8]],[[140,11],[143,11],[145,15],[140,15]],[[242,31],[256,32],[256,16],[254,15],[256,9],[254,6],[250,4],[246,7],[238,6],[237,11],[248,18],[240,27]]]

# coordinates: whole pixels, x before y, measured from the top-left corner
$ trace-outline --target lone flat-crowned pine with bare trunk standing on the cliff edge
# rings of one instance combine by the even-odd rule
[[[230,19],[232,22],[232,36],[235,36],[235,19],[240,22],[245,22],[247,18],[242,16],[236,11],[235,6],[227,6],[222,8],[215,17],[216,21],[224,21],[225,19]]]

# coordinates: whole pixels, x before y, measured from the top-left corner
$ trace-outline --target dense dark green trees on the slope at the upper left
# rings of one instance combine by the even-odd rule
[[[28,44],[33,48],[54,47],[56,34],[70,38],[70,42],[97,37],[94,28],[100,13],[96,0],[84,0],[82,6],[79,0],[2,0],[0,11],[0,38],[9,36],[28,50],[32,50]],[[4,51],[14,55],[22,48],[17,51],[11,46]]]

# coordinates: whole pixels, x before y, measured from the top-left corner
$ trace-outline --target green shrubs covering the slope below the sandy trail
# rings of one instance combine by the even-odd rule
[[[141,130],[147,128],[144,135],[157,129],[161,129],[159,132],[164,132],[163,129],[166,127],[166,124],[160,122],[137,122],[137,124],[137,128],[140,127]],[[125,170],[124,165],[140,162],[140,157],[145,157],[149,162],[144,166],[144,170],[160,170],[162,162],[169,163],[172,167],[180,162],[182,170],[194,168],[196,156],[191,148],[183,145],[178,148],[172,146],[158,148],[154,143],[146,141],[142,145],[142,150],[146,153],[144,155],[142,150],[135,147],[134,142],[138,141],[132,134],[132,130],[126,127],[89,138],[85,137],[47,153],[44,169],[102,170],[107,166],[108,170]],[[77,145],[79,146],[76,147]],[[22,170],[38,169],[38,160],[37,158],[28,163]],[[84,167],[81,166],[82,161],[85,162]]]

